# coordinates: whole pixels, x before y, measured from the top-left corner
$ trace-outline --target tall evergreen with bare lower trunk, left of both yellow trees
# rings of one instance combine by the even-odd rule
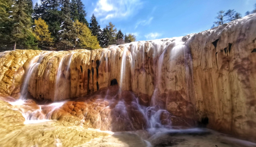
[[[31,0],[17,0],[13,10],[13,29],[12,40],[14,41],[14,50],[16,42],[26,37],[31,26]],[[10,17],[10,16],[9,16]]]

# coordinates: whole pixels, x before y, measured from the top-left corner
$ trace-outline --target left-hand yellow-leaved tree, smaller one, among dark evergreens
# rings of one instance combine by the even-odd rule
[[[51,45],[53,43],[53,38],[51,38],[51,33],[49,32],[48,25],[44,20],[38,18],[35,20],[34,33],[36,34],[36,39],[40,45]]]

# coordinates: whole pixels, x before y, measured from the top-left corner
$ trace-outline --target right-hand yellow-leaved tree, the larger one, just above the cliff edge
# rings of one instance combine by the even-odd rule
[[[76,39],[76,46],[82,47],[85,49],[100,49],[99,42],[96,36],[92,35],[91,30],[87,27],[86,24],[82,22],[74,22],[74,27],[78,33],[78,38]]]

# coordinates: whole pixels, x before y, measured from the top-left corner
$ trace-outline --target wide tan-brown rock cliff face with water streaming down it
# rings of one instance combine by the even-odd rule
[[[0,67],[2,95],[60,101],[117,84],[144,106],[256,141],[256,14],[184,37],[93,51],[6,51]]]

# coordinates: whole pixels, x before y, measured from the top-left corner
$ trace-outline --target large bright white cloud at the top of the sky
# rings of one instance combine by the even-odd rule
[[[126,18],[134,14],[141,4],[140,0],[99,0],[93,13],[100,21]]]

